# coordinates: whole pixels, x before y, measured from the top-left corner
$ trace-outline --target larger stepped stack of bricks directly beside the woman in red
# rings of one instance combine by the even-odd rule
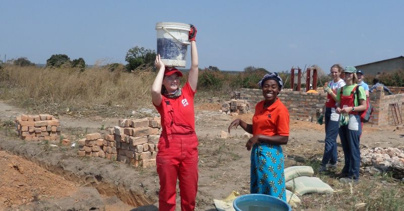
[[[161,133],[160,118],[119,120],[118,126],[79,140],[79,156],[106,157],[134,166],[156,165],[157,144]]]

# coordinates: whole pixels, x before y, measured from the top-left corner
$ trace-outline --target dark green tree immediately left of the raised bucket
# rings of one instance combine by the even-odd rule
[[[144,47],[135,46],[126,53],[125,61],[126,70],[131,71],[142,64],[152,65],[156,59],[156,51],[153,49],[145,49]]]

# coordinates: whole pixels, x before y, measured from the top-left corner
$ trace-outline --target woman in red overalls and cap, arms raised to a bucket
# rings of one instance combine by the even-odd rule
[[[188,81],[180,88],[182,73],[165,67],[160,55],[155,66],[159,71],[151,88],[151,99],[161,116],[162,133],[158,144],[157,173],[160,179],[159,210],[174,211],[179,180],[181,210],[195,209],[198,183],[198,139],[195,134],[193,97],[198,82],[196,28],[191,25],[191,68]]]

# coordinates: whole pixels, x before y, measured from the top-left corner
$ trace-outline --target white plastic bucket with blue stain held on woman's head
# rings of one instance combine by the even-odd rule
[[[189,24],[161,22],[156,23],[157,54],[168,67],[185,67],[189,45]]]

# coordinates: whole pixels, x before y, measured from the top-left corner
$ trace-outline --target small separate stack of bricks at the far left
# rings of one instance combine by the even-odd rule
[[[55,141],[60,139],[61,126],[52,115],[21,115],[16,118],[16,131],[22,140]]]

